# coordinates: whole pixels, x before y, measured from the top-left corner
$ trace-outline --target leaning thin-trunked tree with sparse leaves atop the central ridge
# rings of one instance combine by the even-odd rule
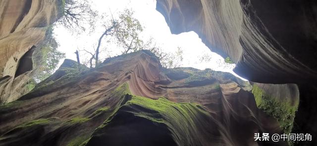
[[[111,13],[111,18],[107,19],[106,15],[100,17],[104,32],[98,39],[97,48],[94,52],[83,50],[89,53],[92,57],[90,58],[90,65],[92,67],[92,60],[95,59],[95,66],[100,63],[99,54],[100,48],[105,37],[110,37],[112,42],[123,48],[122,54],[126,54],[131,51],[137,51],[142,48],[143,41],[139,39],[139,33],[143,31],[140,22],[133,18],[133,11],[130,9],[124,9],[118,16],[114,18]],[[108,42],[110,42],[108,40]]]

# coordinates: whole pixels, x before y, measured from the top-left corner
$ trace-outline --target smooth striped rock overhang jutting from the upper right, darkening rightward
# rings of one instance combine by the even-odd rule
[[[173,34],[194,31],[235,73],[262,83],[317,81],[315,0],[157,0]]]

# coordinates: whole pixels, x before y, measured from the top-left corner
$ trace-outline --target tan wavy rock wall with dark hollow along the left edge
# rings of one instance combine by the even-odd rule
[[[28,92],[33,53],[41,48],[47,26],[61,16],[59,0],[0,1],[0,105]]]

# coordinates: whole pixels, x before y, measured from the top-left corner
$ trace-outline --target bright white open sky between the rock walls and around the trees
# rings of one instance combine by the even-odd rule
[[[112,14],[116,14],[125,8],[131,8],[134,11],[134,17],[145,27],[142,34],[140,34],[142,38],[153,37],[165,52],[175,52],[177,46],[182,48],[184,59],[181,67],[193,67],[200,70],[210,68],[214,71],[229,72],[236,75],[232,71],[235,65],[225,65],[224,59],[211,52],[196,33],[188,32],[172,35],[163,15],[156,10],[156,0],[93,0],[92,6],[100,13],[106,14],[109,14],[109,10]],[[85,48],[93,52],[93,45],[98,42],[102,31],[103,29],[97,29],[96,33],[91,35],[81,34],[77,36],[72,35],[65,28],[57,26],[54,29],[54,34],[60,44],[58,49],[66,54],[66,58],[76,60],[74,52],[77,48],[80,50]],[[102,44],[105,45],[102,45],[101,48],[106,47],[108,50],[107,52],[101,52],[100,56],[106,58],[120,55],[120,50],[111,49],[113,47],[107,46],[106,42],[102,42]],[[84,55],[84,52],[80,53]],[[211,59],[208,62],[201,62],[200,58],[202,56],[208,56]]]

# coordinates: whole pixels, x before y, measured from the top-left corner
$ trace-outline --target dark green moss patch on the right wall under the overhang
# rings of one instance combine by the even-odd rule
[[[291,133],[298,104],[293,106],[290,101],[278,101],[277,98],[267,95],[257,85],[253,86],[252,93],[258,108],[276,118],[285,134]]]

